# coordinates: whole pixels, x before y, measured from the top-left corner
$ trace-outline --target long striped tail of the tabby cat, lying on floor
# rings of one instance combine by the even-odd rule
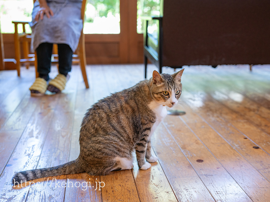
[[[17,185],[25,181],[27,182],[29,180],[38,179],[42,177],[49,177],[63,174],[75,174],[82,172],[85,172],[85,170],[82,168],[81,165],[79,165],[78,159],[76,159],[74,161],[67,162],[63,165],[58,165],[51,168],[41,168],[17,172],[13,176],[12,184]]]

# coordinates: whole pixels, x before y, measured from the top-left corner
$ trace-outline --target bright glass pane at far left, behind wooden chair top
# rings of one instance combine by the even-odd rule
[[[0,20],[2,33],[14,33],[12,21],[32,20],[33,1],[32,0],[0,0]],[[18,26],[19,33],[22,26]],[[31,28],[26,25],[26,33],[31,33]]]

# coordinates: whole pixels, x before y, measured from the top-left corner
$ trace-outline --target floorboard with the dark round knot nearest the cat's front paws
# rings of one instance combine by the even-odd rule
[[[232,176],[211,154],[208,148],[183,122],[176,125],[175,117],[165,117],[165,125],[178,145],[182,148],[190,164],[215,200],[251,201]],[[197,162],[203,160],[203,162]],[[218,190],[218,191],[217,191]]]

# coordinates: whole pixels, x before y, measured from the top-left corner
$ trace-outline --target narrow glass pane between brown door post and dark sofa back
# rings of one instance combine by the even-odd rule
[[[138,0],[137,1],[137,33],[142,34],[144,28],[144,20],[141,16],[161,16],[161,2],[162,0]],[[150,21],[148,31],[151,34],[157,29],[157,21]],[[151,30],[152,29],[152,30]]]

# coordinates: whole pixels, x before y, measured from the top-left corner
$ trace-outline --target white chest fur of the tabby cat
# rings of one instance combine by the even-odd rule
[[[152,134],[155,132],[158,125],[161,123],[161,121],[167,115],[167,109],[165,106],[163,106],[161,104],[157,104],[155,101],[152,101],[148,106],[156,115],[156,122],[153,124],[153,126],[151,127],[151,130],[150,130],[150,135],[149,135],[149,140],[150,140]]]

